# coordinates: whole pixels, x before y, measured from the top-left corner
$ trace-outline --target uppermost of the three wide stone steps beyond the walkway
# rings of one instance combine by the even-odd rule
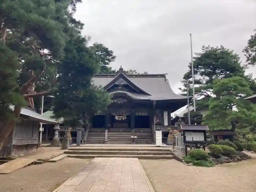
[[[101,148],[92,148],[92,147],[70,147],[68,151],[165,151],[169,152],[169,148],[144,148],[144,147],[136,147],[134,148],[109,148],[102,146]]]

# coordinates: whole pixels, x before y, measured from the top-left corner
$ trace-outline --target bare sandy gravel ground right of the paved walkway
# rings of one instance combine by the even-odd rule
[[[156,192],[255,192],[256,155],[215,167],[186,166],[171,160],[140,160]]]

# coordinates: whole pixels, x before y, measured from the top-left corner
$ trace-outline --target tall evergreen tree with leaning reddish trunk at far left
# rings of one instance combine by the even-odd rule
[[[3,74],[9,81],[0,84],[4,96],[0,112],[6,109],[7,103],[14,104],[15,108],[13,117],[0,128],[0,150],[14,128],[24,99],[33,108],[33,97],[49,94],[48,91],[34,93],[35,84],[63,59],[69,34],[83,26],[73,18],[78,2],[80,0],[1,1],[0,49],[12,59],[7,62],[8,56],[0,55],[1,63],[7,64],[0,68],[1,78]],[[5,89],[6,86],[9,89]]]

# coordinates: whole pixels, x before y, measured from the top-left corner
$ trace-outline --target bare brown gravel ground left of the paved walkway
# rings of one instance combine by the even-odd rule
[[[56,163],[31,165],[2,174],[0,192],[52,192],[89,162],[89,159],[65,158]]]

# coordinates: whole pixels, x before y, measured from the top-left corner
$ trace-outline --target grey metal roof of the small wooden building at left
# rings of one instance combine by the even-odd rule
[[[10,109],[14,110],[14,105],[10,105]],[[31,121],[39,121],[45,124],[59,124],[57,121],[48,117],[44,117],[41,114],[35,112],[34,110],[28,108],[21,108],[20,114],[28,116],[29,120]]]

